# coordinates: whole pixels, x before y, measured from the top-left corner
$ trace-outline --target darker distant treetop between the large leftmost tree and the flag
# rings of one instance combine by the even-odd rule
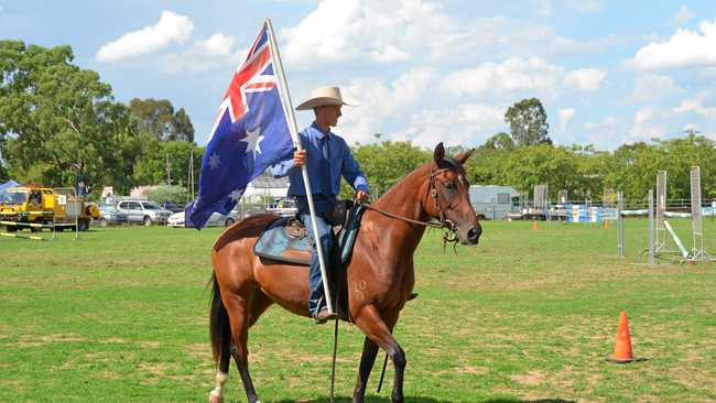
[[[184,108],[174,112],[174,106],[169,100],[152,98],[134,98],[129,107],[142,131],[163,141],[194,142],[194,126]]]

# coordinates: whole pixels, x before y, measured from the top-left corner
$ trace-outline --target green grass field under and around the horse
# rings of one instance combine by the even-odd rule
[[[690,222],[672,222],[687,246]],[[716,253],[716,222],[704,227]],[[614,227],[484,228],[477,248],[443,253],[433,232],[416,254],[420,297],[395,328],[408,401],[716,401],[716,263],[644,265],[646,220],[627,221],[627,259]],[[0,238],[0,401],[205,402],[214,384],[205,286],[218,233]],[[648,361],[605,362],[622,309]],[[326,402],[332,341],[333,326],[271,308],[249,337],[261,400]],[[340,402],[361,347],[360,331],[341,325]],[[367,400],[388,402],[392,371],[376,394],[378,361],[382,353]],[[232,366],[227,402],[245,400]]]

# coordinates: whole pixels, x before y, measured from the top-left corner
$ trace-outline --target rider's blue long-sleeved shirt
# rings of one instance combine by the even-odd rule
[[[337,195],[340,193],[340,176],[356,190],[368,190],[368,178],[360,171],[358,162],[350,154],[346,141],[332,133],[324,133],[314,122],[300,133],[301,144],[306,150],[306,167],[313,194]],[[329,161],[324,159],[323,142],[328,142]],[[289,196],[305,196],[301,170],[293,163],[293,151],[269,167],[273,177],[289,175]]]

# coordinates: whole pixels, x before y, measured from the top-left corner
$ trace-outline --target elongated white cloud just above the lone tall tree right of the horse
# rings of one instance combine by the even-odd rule
[[[500,95],[529,89],[553,91],[564,69],[540,57],[510,57],[495,64],[460,69],[443,79],[442,87],[455,95]]]

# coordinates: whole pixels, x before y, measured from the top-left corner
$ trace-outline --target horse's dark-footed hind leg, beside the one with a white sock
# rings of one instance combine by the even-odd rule
[[[259,402],[256,394],[256,389],[249,375],[249,351],[247,349],[247,339],[249,336],[249,313],[251,312],[250,301],[253,297],[253,290],[243,293],[243,295],[235,294],[226,295],[221,293],[224,305],[229,314],[229,323],[231,324],[231,356],[236,361],[236,366],[241,375],[243,390],[249,403]],[[248,295],[247,295],[248,294]]]

